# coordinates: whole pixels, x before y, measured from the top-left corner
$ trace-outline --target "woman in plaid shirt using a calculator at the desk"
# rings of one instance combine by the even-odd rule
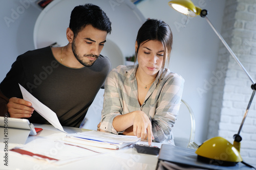
[[[173,35],[161,20],[149,19],[135,44],[137,65],[120,65],[105,82],[100,130],[174,144],[172,127],[181,104],[184,79],[164,68]]]

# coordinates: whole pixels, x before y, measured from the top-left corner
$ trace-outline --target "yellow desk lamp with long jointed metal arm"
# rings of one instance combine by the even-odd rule
[[[200,147],[196,150],[196,154],[198,155],[197,159],[199,161],[204,161],[210,164],[217,164],[222,166],[234,166],[238,162],[242,161],[242,158],[240,155],[240,142],[242,140],[242,137],[240,136],[240,132],[243,127],[247,113],[249,111],[249,108],[255,93],[256,84],[251,78],[251,76],[249,75],[249,73],[247,72],[247,70],[244,68],[242,63],[239,61],[236,55],[232,52],[231,48],[228,46],[226,41],[222,38],[221,34],[215,29],[215,27],[212,25],[212,23],[208,19],[207,10],[205,9],[202,10],[198,7],[195,7],[195,5],[190,0],[173,0],[173,1],[170,1],[168,4],[170,7],[172,7],[173,9],[175,9],[176,11],[184,15],[192,16],[192,17],[200,15],[201,17],[205,18],[209,23],[210,27],[214,30],[214,32],[220,38],[221,42],[225,45],[228,52],[231,54],[234,60],[237,61],[240,67],[242,67],[245,74],[249,77],[249,79],[252,82],[252,85],[251,85],[251,88],[253,90],[252,95],[248,103],[247,109],[244,113],[239,131],[237,134],[233,135],[233,139],[234,139],[233,144],[229,143],[226,139],[222,137],[214,137],[203,142],[200,145]]]

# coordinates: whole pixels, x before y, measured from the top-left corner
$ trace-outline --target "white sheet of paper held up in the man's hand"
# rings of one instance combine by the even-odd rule
[[[44,117],[50,124],[52,124],[55,128],[58,130],[65,132],[63,130],[63,127],[59,123],[59,119],[49,107],[42,104],[40,101],[38,101],[32,94],[30,94],[22,85],[18,84],[20,91],[22,91],[23,99],[31,102],[32,107],[35,109],[35,111],[40,114],[42,117]],[[33,115],[32,115],[33,116]],[[67,132],[65,132],[67,133]]]

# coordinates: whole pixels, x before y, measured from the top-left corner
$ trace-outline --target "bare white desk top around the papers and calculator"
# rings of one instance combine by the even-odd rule
[[[55,129],[51,125],[35,124],[35,127],[42,128],[43,130],[38,132],[36,136],[29,136],[25,145],[28,145],[30,142],[33,142],[36,139],[45,140],[49,138],[49,140],[54,140],[53,136],[59,138],[66,135],[66,133]],[[86,129],[79,128],[63,128],[68,133],[87,131]],[[51,138],[49,136],[51,136]],[[160,143],[155,144],[160,148]],[[38,145],[38,147],[40,147],[40,145]],[[56,151],[58,151],[58,148],[49,148],[49,152],[52,152],[53,155]],[[0,155],[0,157],[3,159],[3,149],[1,149]],[[137,153],[136,149],[132,148],[132,146],[120,150],[110,150],[110,152],[106,154],[87,157],[60,166],[38,161],[34,158],[28,158],[28,156],[22,156],[20,154],[13,153],[12,151],[9,151],[8,155],[8,166],[4,166],[4,163],[1,160],[0,169],[155,169],[158,161],[158,156],[139,154]]]

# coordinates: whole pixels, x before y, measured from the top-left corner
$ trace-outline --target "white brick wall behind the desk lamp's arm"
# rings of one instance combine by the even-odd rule
[[[221,34],[256,81],[256,0],[226,0]],[[233,143],[232,137],[238,133],[251,97],[252,82],[222,43],[215,72],[221,72],[222,76],[214,84],[208,138],[221,136]],[[240,135],[243,160],[255,164],[256,96]]]

